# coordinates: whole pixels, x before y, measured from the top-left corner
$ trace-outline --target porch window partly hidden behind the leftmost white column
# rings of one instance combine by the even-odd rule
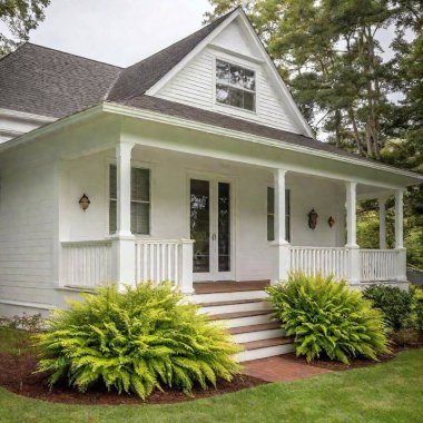
[[[109,232],[116,233],[117,227],[117,173],[110,165],[109,171]],[[130,175],[130,230],[132,234],[148,235],[150,233],[150,170],[131,168]]]

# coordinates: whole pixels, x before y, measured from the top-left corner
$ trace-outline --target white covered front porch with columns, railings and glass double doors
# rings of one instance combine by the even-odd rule
[[[81,166],[83,161],[89,166]],[[110,227],[110,164],[116,166],[117,184],[114,233],[104,230]],[[131,230],[135,164],[150,171],[150,229],[146,235]],[[250,288],[260,281],[275,283],[291,270],[333,274],[357,287],[406,281],[402,189],[128,141],[101,154],[73,158],[65,175],[70,191],[87,191],[92,204],[86,212],[69,213],[62,222],[59,283],[63,287],[90,289],[110,282],[171,281],[184,293],[198,294],[204,289],[243,291],[243,284]],[[87,180],[91,180],[88,189]],[[201,194],[201,184],[196,188],[193,181],[206,183],[199,188],[207,190]],[[273,190],[272,201],[268,189]],[[230,198],[226,209],[219,205],[223,195]],[[194,204],[200,198],[209,208],[208,226],[197,234],[193,196]],[[388,196],[395,196],[396,205],[394,249],[385,246]],[[380,199],[380,249],[361,249],[356,244],[357,201],[370,198]],[[98,208],[96,201],[104,207]],[[318,215],[314,228],[307,216],[313,209]],[[226,212],[225,220],[218,218],[222,212]],[[76,229],[81,222],[87,228],[83,234]],[[91,225],[102,229],[96,233]],[[203,288],[206,283],[208,287]]]

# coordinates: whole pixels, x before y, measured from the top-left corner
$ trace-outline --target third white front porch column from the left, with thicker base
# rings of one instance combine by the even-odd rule
[[[357,184],[353,181],[346,183],[346,232],[347,240],[345,248],[347,255],[347,279],[350,284],[360,283],[361,263],[360,247],[357,245]]]

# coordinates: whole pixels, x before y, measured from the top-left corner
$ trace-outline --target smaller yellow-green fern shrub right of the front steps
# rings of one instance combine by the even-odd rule
[[[274,317],[294,337],[296,354],[305,355],[307,362],[321,356],[343,363],[356,356],[377,360],[388,352],[381,312],[345,281],[293,273],[267,292]]]

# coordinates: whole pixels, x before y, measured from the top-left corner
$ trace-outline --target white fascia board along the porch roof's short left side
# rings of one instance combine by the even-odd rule
[[[66,116],[63,118],[53,120],[52,122],[41,126],[39,128],[36,128],[29,132],[26,132],[21,135],[20,137],[12,138],[6,142],[0,144],[0,154],[10,148],[14,148],[22,144],[33,141],[37,138],[40,138],[42,136],[46,136],[48,134],[62,129],[66,126],[75,125],[77,122],[90,119],[91,117],[101,114],[101,111],[102,111],[102,105],[97,105],[89,109],[78,111],[75,115]]]

